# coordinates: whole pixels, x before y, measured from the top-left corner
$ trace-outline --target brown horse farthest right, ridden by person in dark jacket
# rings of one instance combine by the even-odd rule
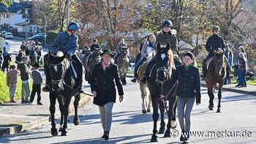
[[[227,75],[226,65],[224,59],[224,52],[222,49],[214,49],[214,57],[209,62],[207,72],[206,72],[206,86],[208,88],[208,96],[210,98],[208,108],[209,110],[213,110],[214,107],[214,90],[217,87],[217,83],[219,83],[219,91],[218,91],[218,108],[217,113],[220,113],[220,101],[222,99],[222,86]]]

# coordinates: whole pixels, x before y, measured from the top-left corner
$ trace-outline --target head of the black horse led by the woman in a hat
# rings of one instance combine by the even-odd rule
[[[61,93],[64,90],[64,72],[67,69],[67,64],[64,63],[65,55],[62,53],[63,56],[53,56],[49,52],[49,59],[48,59],[48,70],[50,72],[50,77],[52,83],[50,84],[50,91],[54,91],[56,93]]]

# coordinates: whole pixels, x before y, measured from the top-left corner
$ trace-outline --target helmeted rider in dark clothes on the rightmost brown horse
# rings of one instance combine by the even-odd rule
[[[208,56],[203,60],[203,78],[206,77],[206,61],[208,61],[209,58],[212,58],[214,56],[214,49],[221,48],[223,52],[225,51],[225,43],[222,39],[222,37],[219,36],[219,26],[214,26],[213,29],[213,35],[207,39],[206,42],[206,50],[209,52]],[[227,57],[225,57],[225,64],[227,68],[227,77],[230,75],[230,66],[228,64]]]

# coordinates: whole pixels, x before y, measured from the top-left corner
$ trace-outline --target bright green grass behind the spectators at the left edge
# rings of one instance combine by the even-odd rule
[[[21,97],[21,80],[20,77],[18,77],[18,87],[15,94],[15,99],[20,99]],[[9,87],[7,86],[7,75],[0,71],[0,104],[3,102],[9,102],[10,101],[10,92]],[[30,88],[32,86],[32,83],[30,82]]]

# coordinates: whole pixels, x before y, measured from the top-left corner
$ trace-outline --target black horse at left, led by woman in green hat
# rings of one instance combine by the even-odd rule
[[[72,94],[72,90],[75,86],[75,69],[76,66],[73,65],[73,61],[69,61],[66,55],[63,56],[52,56],[49,53],[48,59],[48,70],[50,76],[50,117],[51,117],[51,134],[53,136],[57,135],[56,124],[54,120],[55,113],[55,103],[56,98],[58,98],[61,110],[61,127],[59,131],[62,136],[67,135],[67,116],[69,114],[69,104],[71,102],[72,96],[75,96],[74,107],[75,115],[73,119],[73,124],[80,124],[78,118],[78,104],[80,100],[80,94]],[[60,98],[61,97],[61,98]],[[64,102],[61,106],[61,101]],[[64,125],[62,127],[62,119],[64,117]]]

